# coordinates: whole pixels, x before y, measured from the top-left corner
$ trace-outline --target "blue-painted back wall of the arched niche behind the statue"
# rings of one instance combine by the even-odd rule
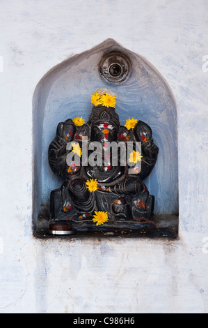
[[[131,75],[122,83],[106,82],[99,62],[105,54],[120,52],[131,61]],[[115,40],[77,54],[52,68],[38,83],[33,96],[33,230],[49,219],[50,191],[63,181],[49,167],[48,147],[59,122],[82,116],[88,121],[90,95],[104,87],[118,95],[115,110],[120,124],[134,117],[152,128],[159,156],[145,184],[155,197],[156,218],[168,222],[178,214],[177,111],[166,81],[146,59]]]

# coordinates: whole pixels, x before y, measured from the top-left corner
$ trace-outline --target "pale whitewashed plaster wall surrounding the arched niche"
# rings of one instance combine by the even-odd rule
[[[0,8],[0,312],[207,313],[208,1],[1,0]],[[106,38],[150,61],[175,95],[177,241],[32,235],[33,91],[50,68]]]

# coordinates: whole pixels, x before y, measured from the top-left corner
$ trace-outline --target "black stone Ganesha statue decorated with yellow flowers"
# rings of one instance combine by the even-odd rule
[[[154,224],[154,196],[143,180],[157,162],[150,126],[115,111],[117,96],[97,89],[92,112],[58,124],[49,145],[49,166],[63,179],[51,191],[50,221],[77,229],[141,227]]]

